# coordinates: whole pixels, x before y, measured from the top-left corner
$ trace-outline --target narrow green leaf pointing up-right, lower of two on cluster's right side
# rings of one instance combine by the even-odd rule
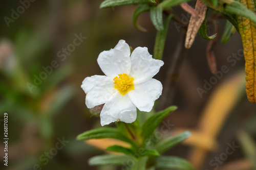
[[[185,131],[176,136],[169,137],[156,145],[156,150],[162,154],[165,151],[173,148],[175,145],[183,142],[187,137],[189,137],[191,133],[189,131]]]

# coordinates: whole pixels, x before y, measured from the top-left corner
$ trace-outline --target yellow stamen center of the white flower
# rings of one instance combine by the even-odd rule
[[[134,78],[130,78],[130,76],[126,75],[125,73],[118,75],[119,77],[115,77],[114,84],[115,89],[118,89],[118,91],[124,95],[130,90],[134,90],[133,81]]]

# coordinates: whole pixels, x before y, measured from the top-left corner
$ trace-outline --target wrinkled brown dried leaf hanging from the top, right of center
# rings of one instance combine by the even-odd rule
[[[186,34],[186,40],[185,40],[185,47],[190,48],[193,42],[195,41],[196,34],[204,21],[205,14],[206,14],[207,6],[200,0],[196,3],[195,12],[198,13],[198,16],[191,15],[188,28],[187,28],[187,34]]]

